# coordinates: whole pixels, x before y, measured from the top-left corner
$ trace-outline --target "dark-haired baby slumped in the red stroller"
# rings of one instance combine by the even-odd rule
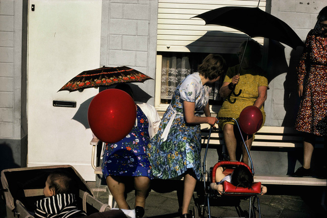
[[[251,188],[252,184],[254,183],[253,175],[249,168],[247,168],[244,165],[237,166],[234,171],[225,176],[223,173],[224,167],[219,166],[216,169],[216,175],[215,175],[215,181],[216,183],[212,182],[210,184],[210,188],[212,190],[217,190],[219,194],[221,194],[224,191],[222,183],[224,181],[230,182],[232,185],[236,187],[242,187],[242,188]],[[261,192],[262,195],[267,192],[267,187],[261,185]]]

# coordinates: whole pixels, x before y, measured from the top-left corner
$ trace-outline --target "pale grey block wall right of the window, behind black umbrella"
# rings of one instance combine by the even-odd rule
[[[325,0],[271,0],[270,13],[287,23],[305,41],[308,32],[314,28],[319,11],[327,5]],[[269,44],[273,42],[269,42]],[[269,52],[272,46],[269,46]],[[268,111],[266,126],[293,127],[297,110],[300,103],[297,88],[296,67],[303,48],[297,50],[285,46],[280,48],[280,53],[272,54],[270,65],[267,69],[269,74],[277,72],[270,83],[265,110]],[[282,54],[283,53],[283,54]],[[275,57],[274,57],[275,56]],[[277,60],[278,57],[284,60]],[[269,61],[268,61],[269,62]]]

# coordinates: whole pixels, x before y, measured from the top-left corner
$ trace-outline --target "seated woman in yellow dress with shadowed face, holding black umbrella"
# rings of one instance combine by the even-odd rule
[[[244,52],[244,49],[246,51]],[[225,100],[218,113],[218,117],[232,117],[238,121],[241,111],[247,106],[258,107],[265,121],[263,103],[267,98],[268,80],[263,70],[257,66],[261,57],[260,45],[254,40],[246,41],[240,45],[237,53],[242,66],[236,65],[227,70],[224,82],[219,90],[220,96]],[[233,92],[233,90],[235,91]],[[239,93],[237,96],[235,93]],[[240,133],[238,128],[234,128],[235,122],[231,120],[220,120],[219,127],[223,130],[224,140],[228,151],[229,159],[236,160],[236,147]],[[235,130],[235,131],[234,131]],[[235,133],[234,133],[235,132]],[[246,144],[251,148],[253,135],[243,134]],[[242,146],[243,147],[243,146]],[[243,162],[248,164],[248,154],[243,147]]]

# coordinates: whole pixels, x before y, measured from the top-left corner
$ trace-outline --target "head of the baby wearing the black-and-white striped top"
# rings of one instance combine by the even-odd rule
[[[62,172],[53,172],[47,178],[43,194],[51,197],[58,194],[68,194],[72,188],[72,179]]]

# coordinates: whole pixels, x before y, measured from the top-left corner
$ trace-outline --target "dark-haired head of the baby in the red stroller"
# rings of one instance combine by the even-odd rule
[[[248,167],[239,165],[232,173],[231,183],[236,187],[250,188],[253,183],[253,175]]]

